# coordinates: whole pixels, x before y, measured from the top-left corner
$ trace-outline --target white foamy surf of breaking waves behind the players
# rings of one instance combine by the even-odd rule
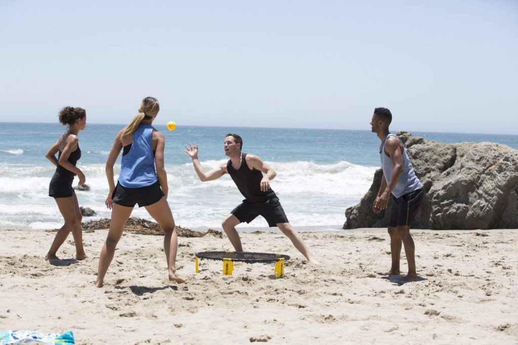
[[[226,160],[202,161],[206,171],[218,168]],[[277,172],[271,181],[294,226],[315,224],[339,227],[345,220],[343,212],[362,198],[372,183],[375,167],[364,167],[348,161],[319,164],[307,161],[268,162]],[[109,218],[106,208],[108,183],[104,164],[78,164],[87,178],[89,191],[76,191],[79,205],[90,207],[96,216]],[[185,227],[221,229],[221,221],[244,199],[232,178],[224,175],[215,181],[199,181],[192,163],[166,164],[169,186],[168,202],[177,224]],[[63,218],[48,186],[55,168],[9,166],[0,171],[0,221],[9,221],[35,229],[56,227]],[[114,167],[117,180],[120,165]],[[74,185],[78,182],[74,179]],[[151,219],[144,207],[135,207],[133,216]],[[262,217],[238,228],[267,228]]]

